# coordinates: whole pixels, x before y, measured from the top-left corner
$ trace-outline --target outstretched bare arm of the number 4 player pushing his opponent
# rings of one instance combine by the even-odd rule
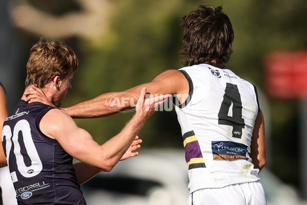
[[[131,107],[130,100],[126,100],[125,103],[110,105],[112,101],[109,99],[112,97],[112,95],[116,94],[116,97],[119,98],[139,96],[142,87],[146,87],[147,92],[152,95],[187,94],[189,92],[188,81],[184,75],[178,70],[167,70],[158,75],[150,83],[142,84],[122,92],[101,94],[91,100],[83,101],[79,104],[64,108],[64,110],[67,111],[73,118],[93,118],[112,115],[117,113],[117,111],[134,108]],[[135,105],[137,103],[137,98],[133,99],[133,103]],[[180,98],[180,101],[184,100],[184,98]],[[111,107],[112,109],[110,109]]]

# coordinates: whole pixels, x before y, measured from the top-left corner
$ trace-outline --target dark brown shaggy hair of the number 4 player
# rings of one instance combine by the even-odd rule
[[[221,66],[228,62],[234,33],[222,6],[198,6],[183,17],[182,26],[184,47],[181,59],[185,66],[203,63]]]

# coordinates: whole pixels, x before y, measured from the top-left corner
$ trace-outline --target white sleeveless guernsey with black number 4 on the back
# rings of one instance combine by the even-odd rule
[[[190,87],[187,100],[175,103],[189,169],[189,192],[259,180],[259,170],[249,157],[259,110],[256,88],[228,69],[207,64],[179,71]]]

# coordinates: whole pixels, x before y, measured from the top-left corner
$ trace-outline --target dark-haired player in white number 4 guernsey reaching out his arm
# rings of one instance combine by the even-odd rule
[[[222,7],[198,6],[183,17],[184,68],[121,93],[172,94],[189,172],[189,205],[264,205],[265,126],[255,86],[229,70],[234,32]],[[31,101],[45,101],[38,89]],[[73,117],[114,114],[106,93],[65,108]],[[120,105],[125,110],[130,105]]]

